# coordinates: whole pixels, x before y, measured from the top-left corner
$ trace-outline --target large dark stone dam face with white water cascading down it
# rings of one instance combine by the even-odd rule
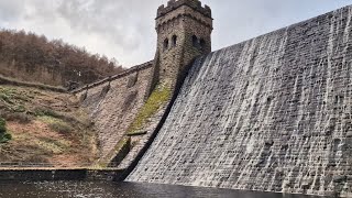
[[[128,182],[352,197],[352,7],[193,65]]]

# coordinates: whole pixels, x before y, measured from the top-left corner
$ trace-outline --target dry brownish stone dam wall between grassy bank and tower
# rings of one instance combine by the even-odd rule
[[[74,91],[98,131],[100,156],[107,157],[122,140],[150,91],[153,62]]]

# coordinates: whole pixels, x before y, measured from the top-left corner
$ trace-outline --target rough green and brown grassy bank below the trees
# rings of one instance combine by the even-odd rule
[[[92,123],[72,95],[0,86],[0,120],[9,138],[0,142],[0,163],[65,167],[97,160]]]

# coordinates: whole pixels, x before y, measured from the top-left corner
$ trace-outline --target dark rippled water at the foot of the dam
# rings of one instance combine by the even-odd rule
[[[108,182],[0,182],[1,198],[315,198],[304,195],[240,191],[172,185]]]

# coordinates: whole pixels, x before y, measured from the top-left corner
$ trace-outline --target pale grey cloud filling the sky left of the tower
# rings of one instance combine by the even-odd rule
[[[154,40],[155,8],[161,1],[0,0],[0,25],[4,20],[9,29],[63,37],[65,42],[86,46],[89,52],[106,53],[132,65],[131,62],[153,58],[154,48],[145,46],[150,47]],[[151,53],[141,53],[145,51]],[[132,55],[136,57],[131,58]]]

